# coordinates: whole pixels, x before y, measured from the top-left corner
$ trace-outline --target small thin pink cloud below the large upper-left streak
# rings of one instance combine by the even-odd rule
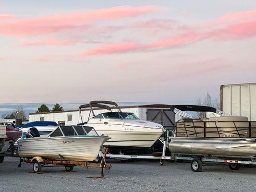
[[[67,46],[67,45],[73,45],[74,43],[75,41],[73,40],[56,40],[56,39],[50,38],[50,39],[44,39],[40,41],[23,42],[21,43],[21,47],[45,46],[45,45]]]

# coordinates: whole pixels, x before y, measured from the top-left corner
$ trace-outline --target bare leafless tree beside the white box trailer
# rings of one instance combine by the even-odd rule
[[[212,99],[209,93],[206,94],[205,99],[202,101],[200,98],[196,101],[196,105],[201,105],[201,106],[208,106],[208,107],[213,107],[216,109],[220,108],[219,105],[219,100],[217,98],[215,100]],[[197,117],[202,119],[206,118],[206,112],[196,112]]]

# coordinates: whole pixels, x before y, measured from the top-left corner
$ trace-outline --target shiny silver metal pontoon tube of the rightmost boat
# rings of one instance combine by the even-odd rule
[[[255,139],[245,138],[171,138],[169,149],[173,154],[214,156],[256,156]]]

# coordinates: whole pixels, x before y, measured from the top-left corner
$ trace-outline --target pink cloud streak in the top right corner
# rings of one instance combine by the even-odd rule
[[[247,11],[247,12],[232,12],[227,13],[226,15],[219,17],[213,21],[207,22],[207,25],[219,25],[219,24],[228,24],[228,23],[238,23],[241,21],[256,19],[256,11]]]

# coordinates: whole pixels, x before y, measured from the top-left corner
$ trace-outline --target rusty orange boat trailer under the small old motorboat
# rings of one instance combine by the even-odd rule
[[[85,168],[101,168],[101,177],[104,177],[103,170],[106,169],[107,172],[110,171],[111,165],[107,165],[106,163],[106,155],[108,153],[108,149],[105,151],[100,164],[92,164],[86,161],[65,161],[65,160],[47,160],[40,156],[35,156],[31,159],[20,158],[20,163],[18,167],[21,167],[22,162],[33,164],[34,173],[40,173],[43,167],[65,167],[66,171],[73,171],[74,166],[80,166]]]

